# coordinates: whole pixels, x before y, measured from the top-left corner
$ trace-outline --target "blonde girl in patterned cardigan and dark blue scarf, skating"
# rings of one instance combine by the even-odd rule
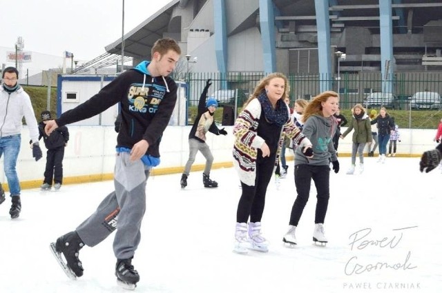
[[[233,165],[241,181],[242,194],[236,212],[234,252],[268,252],[261,234],[261,218],[271,175],[279,160],[283,135],[300,145],[311,157],[311,143],[289,117],[285,103],[289,85],[284,74],[267,75],[256,86],[233,126]]]

